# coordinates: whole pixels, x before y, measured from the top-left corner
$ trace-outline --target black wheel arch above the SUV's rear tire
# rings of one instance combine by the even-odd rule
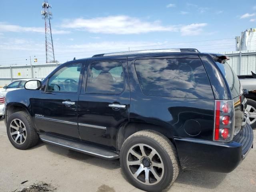
[[[141,130],[154,130],[166,136],[176,147],[172,130],[163,126],[145,123],[145,122],[128,122],[122,124],[118,130],[116,146],[117,150],[120,150],[124,141],[132,134]]]

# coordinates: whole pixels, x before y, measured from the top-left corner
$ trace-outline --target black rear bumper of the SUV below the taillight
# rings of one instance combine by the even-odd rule
[[[246,157],[253,145],[253,132],[246,124],[232,142],[193,138],[174,138],[184,169],[231,172]]]

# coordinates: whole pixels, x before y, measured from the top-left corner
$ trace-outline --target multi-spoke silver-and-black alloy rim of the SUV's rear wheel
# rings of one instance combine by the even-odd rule
[[[132,176],[142,184],[157,184],[164,175],[161,156],[146,144],[132,146],[128,150],[126,164]]]

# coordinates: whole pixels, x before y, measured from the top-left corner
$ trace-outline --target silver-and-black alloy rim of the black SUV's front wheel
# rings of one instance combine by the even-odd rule
[[[16,144],[23,144],[26,141],[27,131],[25,124],[20,119],[12,120],[10,124],[10,135]]]

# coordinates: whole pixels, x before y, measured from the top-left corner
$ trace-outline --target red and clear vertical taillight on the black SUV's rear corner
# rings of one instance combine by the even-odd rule
[[[214,141],[228,142],[234,135],[234,102],[233,100],[216,100],[214,116]]]

